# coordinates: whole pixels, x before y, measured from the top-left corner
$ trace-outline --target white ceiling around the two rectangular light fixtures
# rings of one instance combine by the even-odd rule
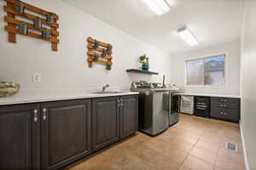
[[[166,0],[171,11],[154,14],[142,0],[63,0],[122,31],[174,54],[240,38],[243,0]],[[200,42],[189,47],[175,31],[187,26]]]

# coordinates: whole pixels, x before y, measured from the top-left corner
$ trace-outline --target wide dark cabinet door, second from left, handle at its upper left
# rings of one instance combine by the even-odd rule
[[[90,99],[41,105],[41,167],[59,169],[91,150]]]

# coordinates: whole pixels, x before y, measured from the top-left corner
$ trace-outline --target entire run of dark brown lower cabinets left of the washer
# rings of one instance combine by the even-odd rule
[[[135,133],[137,108],[137,95],[0,106],[0,169],[60,169]]]

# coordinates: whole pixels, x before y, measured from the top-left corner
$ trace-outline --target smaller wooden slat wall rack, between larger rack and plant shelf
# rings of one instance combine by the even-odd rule
[[[112,48],[113,46],[109,43],[100,42],[91,37],[87,38],[87,48],[88,48],[88,65],[91,68],[92,63],[96,62],[98,64],[106,65],[107,70],[111,70],[112,62]]]

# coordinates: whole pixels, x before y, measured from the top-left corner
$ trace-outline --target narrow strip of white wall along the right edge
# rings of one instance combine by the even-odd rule
[[[249,169],[256,169],[256,2],[247,0],[241,32],[241,128]]]

